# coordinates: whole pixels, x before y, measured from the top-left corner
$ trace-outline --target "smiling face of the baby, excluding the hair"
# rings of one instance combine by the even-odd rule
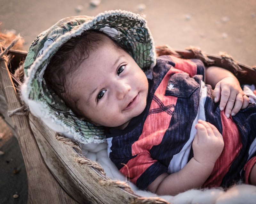
[[[106,36],[72,79],[70,92],[78,98],[78,109],[97,126],[124,129],[146,107],[146,75]]]

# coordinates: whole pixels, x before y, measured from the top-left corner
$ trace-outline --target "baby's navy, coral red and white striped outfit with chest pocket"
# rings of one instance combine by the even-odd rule
[[[228,187],[240,179],[248,182],[256,162],[255,103],[226,118],[213,101],[212,87],[204,84],[204,71],[197,59],[158,57],[153,79],[148,80],[145,110],[124,130],[109,129],[111,161],[140,189],[188,163],[199,119],[213,124],[224,140],[224,149],[203,187]]]

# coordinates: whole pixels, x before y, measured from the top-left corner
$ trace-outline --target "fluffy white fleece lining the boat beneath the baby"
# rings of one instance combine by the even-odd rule
[[[88,159],[97,161],[104,168],[106,175],[113,180],[125,181],[115,164],[111,162],[107,153],[107,143],[90,143],[82,145],[82,153]],[[256,203],[256,186],[238,184],[224,191],[222,188],[188,190],[176,196],[158,196],[148,191],[139,190],[134,184],[129,183],[134,193],[145,197],[160,197],[173,204],[198,203],[198,204],[224,204],[224,203]]]

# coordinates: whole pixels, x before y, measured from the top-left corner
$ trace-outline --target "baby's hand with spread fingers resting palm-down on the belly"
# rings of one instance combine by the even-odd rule
[[[246,108],[249,104],[249,98],[244,94],[235,77],[226,77],[220,80],[215,86],[213,96],[215,103],[220,100],[221,111],[226,106],[225,115],[227,118],[230,114],[234,116],[240,109]]]

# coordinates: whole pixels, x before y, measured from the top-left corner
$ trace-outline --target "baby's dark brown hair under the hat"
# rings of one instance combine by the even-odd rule
[[[77,107],[79,98],[71,97],[67,78],[72,77],[79,65],[89,57],[90,52],[99,47],[102,39],[100,34],[104,33],[96,30],[88,30],[79,36],[72,37],[52,56],[44,72],[44,80],[47,88],[53,90],[71,108],[77,117],[83,117],[88,121],[90,119],[86,118]],[[110,37],[108,36],[108,38]],[[127,52],[126,47],[118,44],[115,40],[112,41],[117,48]]]

